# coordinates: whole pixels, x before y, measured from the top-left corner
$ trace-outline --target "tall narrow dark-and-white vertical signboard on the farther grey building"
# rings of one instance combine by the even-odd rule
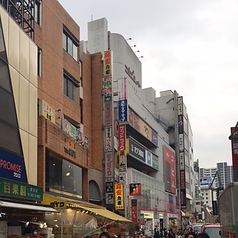
[[[180,206],[186,209],[186,176],[184,155],[184,120],[183,120],[183,97],[178,97],[178,141],[179,141],[179,169],[180,169]]]

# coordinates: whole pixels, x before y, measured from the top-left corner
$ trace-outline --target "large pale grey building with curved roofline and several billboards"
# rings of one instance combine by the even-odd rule
[[[135,222],[143,217],[142,223],[153,224],[151,221],[157,220],[160,227],[171,226],[179,217],[175,151],[170,146],[168,132],[148,110],[148,97],[146,91],[142,90],[141,62],[123,36],[108,31],[105,18],[88,23],[87,47],[90,53],[103,53],[104,60],[110,56],[112,64],[112,72],[109,79],[104,77],[104,85],[112,88],[112,92],[105,90],[111,92],[115,110],[116,125],[114,131],[111,130],[113,134],[109,134],[117,141],[118,149],[111,151],[114,155],[110,157],[117,158],[115,182],[124,185],[125,199],[128,198],[125,211],[123,205],[118,210],[125,212],[125,216]],[[105,99],[108,102],[106,96]],[[108,106],[110,104],[105,103],[104,110]],[[108,125],[104,128],[110,131]],[[107,156],[108,153],[105,154],[105,167],[108,170],[112,160]],[[106,187],[109,181],[106,174]],[[138,189],[135,190],[135,187]],[[110,194],[113,196],[112,190],[105,192],[106,198]],[[117,197],[115,199],[117,201]],[[106,199],[105,202],[110,208],[111,201]]]

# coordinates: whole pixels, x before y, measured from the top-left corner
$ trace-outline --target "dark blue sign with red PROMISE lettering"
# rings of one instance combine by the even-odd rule
[[[24,158],[0,149],[0,177],[27,183]]]

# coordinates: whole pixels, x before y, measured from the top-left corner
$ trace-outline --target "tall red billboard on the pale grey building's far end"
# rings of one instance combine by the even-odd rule
[[[164,162],[165,162],[165,190],[173,194],[176,193],[176,172],[175,172],[175,156],[174,152],[164,146]]]

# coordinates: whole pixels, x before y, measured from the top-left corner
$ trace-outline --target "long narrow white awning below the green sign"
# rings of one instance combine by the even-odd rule
[[[57,210],[55,210],[52,207],[33,205],[33,204],[25,204],[25,203],[7,202],[7,201],[0,201],[0,207],[36,210],[36,211],[42,211],[42,212],[57,212]]]

